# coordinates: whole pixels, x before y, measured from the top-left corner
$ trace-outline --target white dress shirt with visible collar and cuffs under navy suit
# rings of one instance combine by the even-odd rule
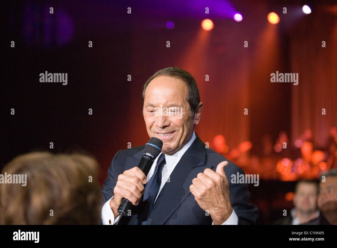
[[[195,132],[193,131],[192,137],[187,141],[187,143],[179,151],[177,151],[173,155],[165,154],[166,164],[162,168],[161,185],[160,185],[160,188],[159,188],[159,191],[158,191],[158,194],[156,196],[155,201],[157,200],[157,197],[158,197],[161,189],[164,187],[164,184],[166,183],[166,181],[168,181],[168,178],[170,177],[172,171],[174,170],[174,168],[178,164],[179,160],[184,155],[185,151],[191,146],[191,144],[193,143],[194,140],[195,140]],[[149,173],[147,174],[147,181],[148,182],[149,182],[151,176],[154,173],[154,170],[156,168],[157,161],[158,161],[158,158],[159,158],[160,154],[153,161],[153,165],[151,166],[151,168],[149,170]],[[191,184],[192,184],[192,182],[191,182]],[[103,205],[102,216],[101,216],[103,225],[109,225],[109,220],[110,220],[111,224],[115,224],[119,219],[119,216],[115,219],[114,213],[112,212],[112,210],[110,208],[110,201],[111,201],[112,198],[113,197],[111,197]],[[234,212],[234,209],[233,209],[233,212],[232,212],[231,216],[229,216],[229,218],[224,223],[222,223],[222,225],[237,225],[237,224],[238,224],[238,216],[236,215],[236,213]],[[212,225],[214,225],[214,222],[212,223]]]

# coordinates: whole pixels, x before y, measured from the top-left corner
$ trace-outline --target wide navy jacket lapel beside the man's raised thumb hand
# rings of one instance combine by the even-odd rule
[[[211,165],[205,166],[206,148],[196,135],[191,146],[186,150],[160,191],[146,224],[162,225],[191,194],[189,187],[192,179]]]

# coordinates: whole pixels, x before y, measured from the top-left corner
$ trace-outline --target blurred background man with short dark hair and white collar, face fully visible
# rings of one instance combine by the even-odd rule
[[[319,216],[317,210],[318,186],[314,181],[299,181],[295,188],[294,208],[275,225],[300,225]]]

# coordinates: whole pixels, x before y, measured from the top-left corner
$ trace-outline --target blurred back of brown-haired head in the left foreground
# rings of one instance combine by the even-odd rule
[[[93,158],[80,154],[14,158],[1,174],[25,175],[26,186],[0,184],[0,224],[99,224],[97,169]]]

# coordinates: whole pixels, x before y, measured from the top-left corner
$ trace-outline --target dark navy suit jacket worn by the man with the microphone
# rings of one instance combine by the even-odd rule
[[[108,169],[108,177],[103,185],[102,195],[108,201],[114,195],[114,187],[119,174],[125,170],[137,167],[144,153],[145,146],[137,146],[116,153]],[[170,182],[166,182],[160,191],[146,224],[212,224],[211,216],[200,208],[189,187],[199,172],[206,168],[216,170],[222,161],[228,161],[211,148],[206,148],[204,142],[196,135],[191,146],[186,150],[170,175]],[[249,203],[250,193],[247,184],[232,184],[231,175],[244,174],[243,170],[228,161],[224,171],[229,183],[229,196],[232,207],[239,218],[238,224],[255,224],[258,209]],[[131,216],[124,216],[122,224],[134,225],[139,223],[139,216],[143,212],[142,202],[133,206]]]

